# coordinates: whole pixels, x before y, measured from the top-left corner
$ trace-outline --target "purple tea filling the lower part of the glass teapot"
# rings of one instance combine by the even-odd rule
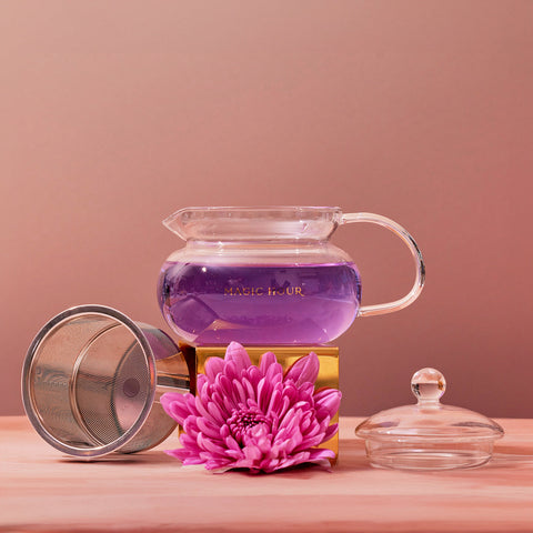
[[[353,263],[167,262],[158,298],[167,322],[191,344],[322,344],[355,319],[361,282]]]

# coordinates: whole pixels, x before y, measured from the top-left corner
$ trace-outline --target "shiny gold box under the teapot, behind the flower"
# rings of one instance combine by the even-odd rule
[[[223,358],[225,355],[225,346],[188,346],[180,345],[185,360],[189,364],[191,374],[191,391],[195,393],[197,374],[204,373],[205,361],[209,358]],[[300,358],[314,352],[319,356],[320,371],[316,379],[316,389],[324,386],[331,389],[339,389],[339,348],[338,346],[244,346],[252,364],[258,365],[261,355],[264,352],[273,352],[278,362],[282,365],[283,371],[291,368]],[[332,419],[331,423],[339,422],[339,413]],[[339,433],[335,433],[329,441],[322,443],[319,447],[328,447],[335,453],[335,459],[332,464],[336,462],[339,455]]]

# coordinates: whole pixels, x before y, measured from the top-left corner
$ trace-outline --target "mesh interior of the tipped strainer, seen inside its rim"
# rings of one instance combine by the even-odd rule
[[[36,352],[30,380],[43,428],[79,447],[123,436],[150,394],[150,369],[138,340],[99,315],[52,329]]]

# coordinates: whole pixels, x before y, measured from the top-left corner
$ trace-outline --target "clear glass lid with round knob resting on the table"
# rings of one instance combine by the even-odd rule
[[[381,411],[355,429],[355,434],[366,440],[373,465],[442,470],[490,460],[503,429],[480,413],[442,404],[445,389],[441,372],[422,369],[411,380],[418,403]]]

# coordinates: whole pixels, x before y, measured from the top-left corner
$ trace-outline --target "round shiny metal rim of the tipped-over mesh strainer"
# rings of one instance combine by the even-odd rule
[[[142,351],[147,358],[149,373],[150,373],[150,394],[147,399],[144,406],[142,408],[141,413],[139,414],[137,421],[129,428],[123,435],[114,440],[109,444],[103,444],[94,447],[79,447],[70,446],[64,442],[56,439],[44,426],[44,422],[41,419],[39,411],[36,409],[32,389],[29,383],[29,378],[31,375],[31,370],[34,363],[36,353],[41,344],[41,342],[48,336],[48,334],[59,326],[61,322],[66,322],[76,316],[82,316],[84,314],[99,314],[102,316],[110,316],[114,319],[119,324],[124,325],[135,338],[139,344],[142,348]],[[98,457],[105,455],[110,452],[120,450],[122,445],[129,442],[140,431],[143,423],[148,419],[150,411],[152,410],[153,401],[155,399],[155,358],[153,355],[150,343],[142,333],[141,329],[125,314],[121,313],[117,309],[109,308],[107,305],[100,304],[84,304],[77,305],[74,308],[67,309],[66,311],[53,316],[48,321],[39,331],[37,336],[33,339],[28,353],[24,360],[22,369],[22,403],[24,406],[26,414],[30,420],[31,424],[36,431],[49,444],[51,444],[57,450],[68,453],[70,455],[77,455],[80,457]]]

